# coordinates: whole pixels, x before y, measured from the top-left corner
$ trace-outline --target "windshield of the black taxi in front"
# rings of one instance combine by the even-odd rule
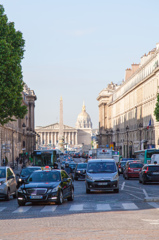
[[[55,171],[33,172],[28,179],[29,182],[59,182],[60,180],[60,173]]]

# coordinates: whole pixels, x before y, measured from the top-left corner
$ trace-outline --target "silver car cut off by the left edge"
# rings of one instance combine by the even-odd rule
[[[0,167],[0,198],[9,201],[11,195],[17,196],[16,176],[10,167]]]

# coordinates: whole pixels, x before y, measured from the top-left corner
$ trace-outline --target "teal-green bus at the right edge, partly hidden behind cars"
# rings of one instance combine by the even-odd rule
[[[159,149],[151,148],[135,151],[134,155],[137,160],[140,160],[143,164],[151,162],[151,156],[153,154],[159,154]]]

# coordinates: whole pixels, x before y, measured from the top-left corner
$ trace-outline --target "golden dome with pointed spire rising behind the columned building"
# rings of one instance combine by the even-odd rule
[[[86,107],[83,103],[82,112],[77,117],[76,128],[92,128],[92,122],[89,114],[86,112]]]

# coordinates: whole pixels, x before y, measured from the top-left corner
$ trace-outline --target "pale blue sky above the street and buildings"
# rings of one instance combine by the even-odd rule
[[[23,33],[23,80],[35,91],[35,126],[75,127],[83,101],[98,128],[97,97],[159,42],[158,0],[0,0]]]

